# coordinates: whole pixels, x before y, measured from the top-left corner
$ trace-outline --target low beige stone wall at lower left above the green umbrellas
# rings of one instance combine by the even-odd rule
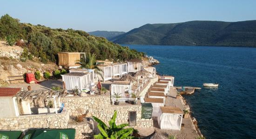
[[[61,114],[21,115],[0,119],[0,130],[27,130],[28,128],[67,128],[69,114],[64,109]]]

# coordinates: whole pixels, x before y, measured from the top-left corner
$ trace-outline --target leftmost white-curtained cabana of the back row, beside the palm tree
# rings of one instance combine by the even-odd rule
[[[98,65],[97,67],[102,70],[103,79],[98,76],[100,80],[105,82],[112,79],[112,65]]]

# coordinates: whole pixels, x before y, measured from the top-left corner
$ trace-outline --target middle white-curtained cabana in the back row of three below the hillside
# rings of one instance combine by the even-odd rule
[[[127,63],[114,63],[112,64],[113,76],[122,77],[124,74],[128,74]]]

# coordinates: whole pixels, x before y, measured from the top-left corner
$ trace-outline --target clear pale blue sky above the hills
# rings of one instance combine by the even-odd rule
[[[0,16],[51,28],[128,32],[145,24],[256,19],[256,0],[4,0]]]

